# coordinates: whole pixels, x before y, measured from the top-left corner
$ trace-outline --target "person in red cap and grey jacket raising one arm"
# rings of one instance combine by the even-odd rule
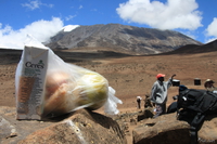
[[[167,102],[167,90],[173,86],[173,79],[176,75],[173,75],[168,81],[164,81],[164,74],[156,75],[156,81],[154,82],[151,91],[151,101],[155,104],[155,115],[156,118],[166,113],[166,102]]]

